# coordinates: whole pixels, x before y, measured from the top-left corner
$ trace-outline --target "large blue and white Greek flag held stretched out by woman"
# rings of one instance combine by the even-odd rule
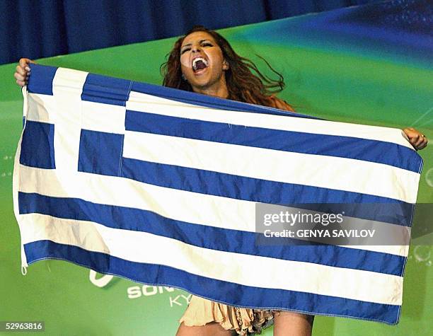
[[[256,204],[408,205],[400,129],[31,65],[13,171],[23,267],[60,259],[252,308],[398,323],[408,245],[255,243]],[[26,268],[25,268],[26,269]]]

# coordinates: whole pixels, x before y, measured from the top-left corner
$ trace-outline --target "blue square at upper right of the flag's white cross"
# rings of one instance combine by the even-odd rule
[[[83,85],[82,100],[95,103],[125,106],[129,99],[132,81],[108,76],[88,74]]]

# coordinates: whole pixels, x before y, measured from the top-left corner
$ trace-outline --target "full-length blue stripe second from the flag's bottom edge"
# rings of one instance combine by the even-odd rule
[[[287,238],[279,245],[258,246],[258,233],[190,224],[142,209],[24,192],[18,192],[18,200],[20,214],[37,213],[64,219],[93,221],[110,228],[153,233],[212,250],[313,262],[398,276],[403,274],[405,257],[398,255],[332,245],[299,245],[306,242],[295,240],[291,240],[293,245],[289,245]]]

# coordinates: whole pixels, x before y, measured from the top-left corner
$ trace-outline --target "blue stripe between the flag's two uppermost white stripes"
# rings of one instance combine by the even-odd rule
[[[370,139],[245,127],[238,124],[207,122],[130,110],[126,112],[125,127],[134,132],[275,149],[277,151],[354,158],[383,163],[416,173],[420,170],[421,165],[421,157],[412,149],[390,142]]]

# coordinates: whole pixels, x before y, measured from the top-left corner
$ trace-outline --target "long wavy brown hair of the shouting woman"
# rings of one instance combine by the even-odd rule
[[[167,54],[167,62],[161,65],[161,74],[163,74],[164,77],[163,86],[192,91],[190,83],[182,78],[182,71],[180,69],[180,46],[187,35],[197,31],[212,35],[217,45],[221,48],[224,59],[229,63],[229,69],[225,71],[229,99],[265,106],[275,105],[270,95],[282,91],[284,88],[283,76],[275,71],[265,59],[258,56],[275,74],[277,74],[278,79],[270,79],[265,76],[250,59],[236,54],[224,37],[214,30],[204,28],[202,25],[195,26],[192,30],[183,35],[183,37],[180,37],[175,42],[171,52]]]

